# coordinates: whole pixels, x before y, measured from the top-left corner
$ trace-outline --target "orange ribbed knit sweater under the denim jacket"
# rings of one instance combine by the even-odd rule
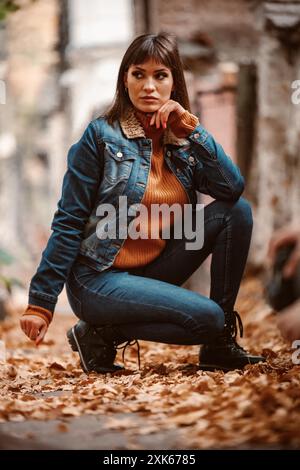
[[[151,117],[141,112],[137,111],[136,117],[141,122],[146,137],[152,140],[151,170],[145,194],[141,201],[147,208],[148,216],[147,220],[137,226],[137,231],[143,231],[145,234],[148,232],[148,237],[134,240],[130,238],[130,235],[128,236],[113,263],[113,266],[119,269],[145,266],[157,258],[165,248],[166,240],[161,238],[161,231],[166,224],[173,225],[174,218],[171,217],[171,220],[169,220],[168,217],[168,220],[163,220],[160,214],[159,220],[153,220],[153,217],[151,218],[151,204],[166,203],[171,206],[174,203],[179,203],[183,206],[188,203],[185,189],[164,160],[161,143],[164,130],[162,127],[156,129],[155,125],[150,126]],[[188,136],[197,123],[196,116],[188,111],[185,111],[180,117],[172,116],[172,119],[169,119],[171,130],[177,137]],[[140,217],[139,219],[141,220]],[[150,237],[151,228],[154,229],[153,224],[156,225],[155,233],[159,234],[159,238],[151,239]]]

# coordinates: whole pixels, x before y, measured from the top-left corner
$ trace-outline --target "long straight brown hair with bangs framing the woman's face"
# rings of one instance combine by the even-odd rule
[[[171,99],[178,101],[184,109],[190,111],[190,102],[186,89],[183,66],[179,56],[176,37],[168,33],[143,34],[134,39],[122,59],[114,101],[108,111],[104,113],[109,124],[124,117],[131,101],[125,91],[124,75],[131,65],[143,64],[148,59],[162,63],[168,67],[173,76],[174,91]]]

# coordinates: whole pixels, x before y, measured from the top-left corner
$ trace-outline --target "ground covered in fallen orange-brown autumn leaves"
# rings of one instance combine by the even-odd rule
[[[0,429],[7,421],[58,420],[58,434],[68,433],[73,417],[101,415],[102,429],[124,433],[131,442],[174,431],[173,445],[182,449],[299,448],[294,351],[280,337],[256,279],[244,283],[237,306],[245,326],[241,344],[268,361],[227,374],[198,370],[197,346],[141,341],[140,370],[132,347],[124,372],[86,375],[65,337],[75,317],[57,312],[36,348],[19,329],[19,312],[12,313],[0,324],[7,347],[7,361],[0,364]]]

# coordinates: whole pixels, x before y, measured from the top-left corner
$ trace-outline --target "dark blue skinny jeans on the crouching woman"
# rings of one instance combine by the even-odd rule
[[[66,282],[72,310],[94,325],[114,325],[127,339],[204,344],[224,328],[239,291],[252,233],[249,203],[214,201],[204,209],[204,245],[171,239],[148,265],[97,272],[75,262]],[[210,298],[180,287],[212,253]]]

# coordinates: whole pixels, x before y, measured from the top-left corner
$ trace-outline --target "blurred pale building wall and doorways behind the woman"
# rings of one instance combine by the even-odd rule
[[[192,110],[246,178],[249,266],[260,269],[273,231],[300,217],[300,0],[15,3],[0,21],[0,247],[16,258],[7,269],[25,284],[34,274],[68,148],[111,102],[132,39],[159,31],[177,35]],[[202,279],[205,269],[189,287]]]

